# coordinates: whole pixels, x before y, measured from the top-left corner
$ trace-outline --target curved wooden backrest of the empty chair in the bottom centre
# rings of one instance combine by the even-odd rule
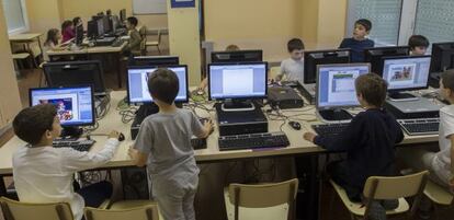
[[[247,208],[265,208],[291,204],[296,198],[298,180],[260,185],[230,184],[230,202]]]

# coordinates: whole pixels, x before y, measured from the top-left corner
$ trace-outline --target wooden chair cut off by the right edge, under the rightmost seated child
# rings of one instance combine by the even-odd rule
[[[424,195],[434,204],[436,219],[439,219],[440,206],[452,206],[453,204],[453,195],[430,180],[425,184]]]

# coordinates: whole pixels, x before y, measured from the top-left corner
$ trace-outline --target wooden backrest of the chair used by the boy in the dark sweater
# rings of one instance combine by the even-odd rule
[[[371,176],[364,185],[363,194],[366,198],[372,199],[397,199],[416,196],[423,192],[428,173],[428,171],[423,171],[406,176]]]

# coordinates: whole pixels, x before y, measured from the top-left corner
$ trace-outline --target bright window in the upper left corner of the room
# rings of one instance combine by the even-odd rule
[[[1,0],[8,34],[19,34],[29,31],[25,0]]]

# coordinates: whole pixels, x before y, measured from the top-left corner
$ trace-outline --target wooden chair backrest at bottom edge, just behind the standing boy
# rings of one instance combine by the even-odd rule
[[[84,209],[86,220],[159,220],[158,206],[147,205],[132,209]]]

